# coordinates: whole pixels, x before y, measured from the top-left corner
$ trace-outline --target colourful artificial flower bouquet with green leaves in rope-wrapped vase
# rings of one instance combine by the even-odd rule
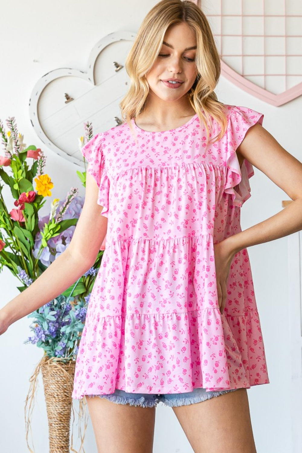
[[[18,133],[14,117],[6,120],[5,133],[0,121],[0,135],[4,155],[0,156],[0,271],[10,269],[26,289],[69,245],[80,216],[83,199],[78,189],[72,188],[64,201],[55,198],[48,215],[39,212],[47,197],[51,197],[53,183],[44,172],[46,158],[34,145],[26,147]],[[86,125],[87,140],[92,128]],[[80,139],[81,146],[84,139]],[[77,172],[85,186],[86,172]],[[4,199],[3,188],[8,186],[11,197]],[[34,318],[33,337],[26,342],[43,347],[49,357],[74,358],[86,317],[86,309],[103,249],[94,266],[76,284],[48,304],[29,314]]]

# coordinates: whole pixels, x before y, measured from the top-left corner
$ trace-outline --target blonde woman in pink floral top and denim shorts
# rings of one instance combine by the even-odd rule
[[[247,247],[302,229],[302,164],[261,113],[217,100],[219,56],[192,2],[149,11],[126,70],[124,123],[82,148],[71,244],[0,310],[0,333],[84,274],[106,236],[72,393],[98,452],[152,452],[161,401],[194,452],[254,453],[247,389],[269,380]],[[241,231],[253,165],[293,202]]]

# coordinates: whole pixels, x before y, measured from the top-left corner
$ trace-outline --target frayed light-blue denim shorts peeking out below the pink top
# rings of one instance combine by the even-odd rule
[[[98,396],[99,398],[106,398],[117,404],[129,404],[130,406],[155,407],[159,402],[162,402],[164,405],[172,407],[200,403],[201,401],[209,400],[214,396],[223,395],[224,393],[233,392],[234,390],[237,389],[206,391],[204,388],[196,388],[192,392],[185,393],[148,394],[127,393],[124,390],[115,389],[115,392],[110,394],[86,396]]]

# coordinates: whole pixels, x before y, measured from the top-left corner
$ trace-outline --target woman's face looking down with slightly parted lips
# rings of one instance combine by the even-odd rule
[[[164,101],[177,101],[185,95],[197,76],[196,35],[185,23],[171,25],[153,67],[146,74],[150,92]],[[181,83],[165,82],[177,79]]]

